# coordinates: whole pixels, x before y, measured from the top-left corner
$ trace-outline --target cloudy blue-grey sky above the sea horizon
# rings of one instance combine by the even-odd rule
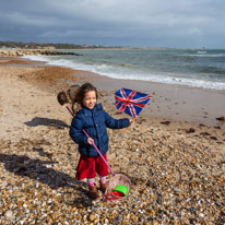
[[[1,0],[0,42],[225,49],[225,0]]]

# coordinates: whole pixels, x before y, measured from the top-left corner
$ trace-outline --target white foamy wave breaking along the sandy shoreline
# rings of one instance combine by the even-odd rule
[[[55,56],[24,56],[23,58],[35,61],[45,61],[49,66],[60,66],[76,70],[90,71],[112,79],[140,80],[165,84],[186,85],[191,87],[225,90],[225,82],[200,80],[197,79],[197,76],[194,75],[192,75],[192,78],[186,78],[187,74],[179,74],[181,78],[176,78],[177,74],[173,73],[157,72],[156,74],[154,72],[143,72],[140,70],[133,70],[133,68],[131,69],[129,67],[122,69],[121,66],[115,67],[112,64],[106,63],[83,63],[74,61],[74,59],[64,59]]]

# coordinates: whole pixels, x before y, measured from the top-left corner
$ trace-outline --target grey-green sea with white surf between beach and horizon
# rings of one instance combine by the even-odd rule
[[[49,66],[112,79],[225,90],[225,49],[82,49],[59,56],[24,56]]]

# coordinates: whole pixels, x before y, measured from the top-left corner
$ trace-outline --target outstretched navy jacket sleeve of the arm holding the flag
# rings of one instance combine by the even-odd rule
[[[105,114],[105,121],[106,121],[106,127],[107,128],[122,129],[122,128],[129,127],[129,125],[130,125],[130,120],[128,118],[114,119],[106,111],[104,111],[104,114]]]

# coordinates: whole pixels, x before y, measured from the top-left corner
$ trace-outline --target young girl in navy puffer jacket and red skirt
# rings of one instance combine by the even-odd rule
[[[130,121],[127,118],[117,120],[104,111],[102,104],[97,104],[97,90],[91,83],[85,83],[80,87],[76,99],[82,108],[76,112],[70,127],[70,137],[79,144],[79,152],[81,154],[75,178],[78,180],[87,179],[90,197],[95,200],[99,197],[94,179],[96,173],[99,175],[100,190],[105,192],[108,168],[92,143],[95,143],[107,161],[107,128],[127,128],[131,125],[132,120]],[[83,129],[91,138],[84,134]]]

